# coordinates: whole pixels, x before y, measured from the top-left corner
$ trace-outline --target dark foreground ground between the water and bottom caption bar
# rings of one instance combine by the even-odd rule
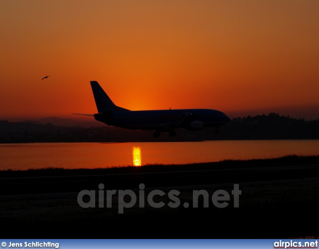
[[[287,156],[279,159],[191,165],[148,165],[139,168],[1,171],[1,237],[10,239],[317,238],[319,170],[316,165],[319,165],[319,156]],[[251,168],[254,170],[251,171]],[[210,171],[211,169],[216,171]],[[194,181],[190,180],[192,174],[196,179]],[[265,175],[267,177],[263,177]],[[71,178],[75,180],[70,180]],[[136,181],[128,181],[134,178]],[[183,180],[184,178],[187,180]],[[36,187],[33,188],[26,179],[34,181]],[[48,191],[54,186],[52,179],[56,179],[55,186],[64,186],[65,191],[57,191],[63,193]],[[67,180],[61,181],[61,179]],[[88,185],[91,179],[95,180]],[[110,185],[108,181],[102,179],[116,180]],[[202,184],[200,179],[203,179]],[[211,182],[209,179],[212,179]],[[10,184],[10,180],[14,184]],[[177,184],[172,186],[174,182]],[[99,199],[99,183],[104,184],[104,201]],[[140,183],[145,184],[144,194],[139,188]],[[234,184],[238,184],[241,190],[241,194],[238,195],[238,207],[234,207],[234,195],[232,195]],[[88,195],[83,199],[80,198],[83,203],[88,203],[91,207],[83,208],[79,205],[80,191],[73,191],[74,186],[77,190],[95,191],[95,200],[90,199]],[[5,189],[12,193],[6,194]],[[40,190],[37,194],[26,194],[26,191],[34,192],[34,189]],[[118,193],[121,189],[130,189],[135,193],[130,192],[130,194],[137,196],[136,204],[124,208],[123,214],[119,214],[119,206],[123,204],[118,202]],[[106,190],[117,190],[112,199],[112,208],[107,207]],[[163,207],[150,206],[148,196],[152,190],[163,191],[162,196],[156,195],[153,198],[155,203],[162,202]],[[174,198],[168,194],[171,190],[178,190],[180,193]],[[203,207],[206,200],[203,196],[198,198],[198,207],[193,207],[193,190],[207,193],[208,207]],[[217,190],[224,191],[220,193],[223,193],[225,199],[219,200],[216,204],[212,201],[216,198],[212,196]],[[18,195],[19,192],[23,195]],[[176,198],[180,201],[180,205],[176,208],[169,207],[168,204],[175,203]],[[144,208],[141,207],[140,200],[144,200]],[[130,196],[125,196],[124,202],[131,201]],[[101,203],[104,207],[99,207]],[[187,204],[184,203],[189,204],[189,207],[185,208],[184,205]],[[216,207],[222,203],[227,206]]]

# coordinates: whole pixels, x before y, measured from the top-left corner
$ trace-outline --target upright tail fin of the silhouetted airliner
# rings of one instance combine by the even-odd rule
[[[128,109],[116,106],[97,81],[90,81],[90,83],[95,104],[99,113],[104,113],[106,111],[130,111]]]

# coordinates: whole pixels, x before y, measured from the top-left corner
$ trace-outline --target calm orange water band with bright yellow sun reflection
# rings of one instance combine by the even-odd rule
[[[0,170],[105,168],[319,155],[319,140],[0,144]]]

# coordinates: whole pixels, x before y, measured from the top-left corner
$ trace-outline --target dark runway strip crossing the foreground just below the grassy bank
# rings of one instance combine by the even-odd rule
[[[98,189],[175,188],[244,182],[286,181],[319,177],[319,165],[241,167],[142,173],[10,177],[0,179],[0,196],[79,192]]]

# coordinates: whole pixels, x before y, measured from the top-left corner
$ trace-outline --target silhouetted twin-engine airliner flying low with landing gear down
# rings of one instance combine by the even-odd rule
[[[74,114],[93,116],[95,120],[126,129],[152,130],[155,137],[160,132],[175,136],[176,128],[199,130],[203,127],[215,127],[226,124],[230,119],[222,112],[212,109],[179,109],[131,111],[116,106],[97,81],[90,81],[97,114]]]

